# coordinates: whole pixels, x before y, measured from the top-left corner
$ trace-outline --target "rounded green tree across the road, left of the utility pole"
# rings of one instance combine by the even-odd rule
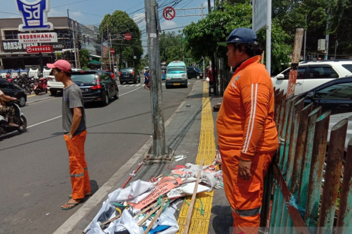
[[[115,53],[119,55],[119,69],[121,69],[122,59],[129,64],[133,64],[133,62],[135,64],[140,63],[143,54],[142,34],[137,24],[126,12],[116,10],[112,14],[106,14],[100,23],[99,31],[100,35],[103,33],[103,39],[106,40],[109,45],[110,38],[108,34],[111,35],[112,47],[115,49]],[[124,39],[126,33],[132,35],[130,41]],[[124,53],[124,51],[126,52]],[[133,56],[136,56],[137,59],[134,60]]]

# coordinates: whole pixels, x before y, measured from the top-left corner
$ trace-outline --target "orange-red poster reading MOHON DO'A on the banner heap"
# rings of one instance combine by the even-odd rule
[[[171,189],[178,187],[182,183],[180,177],[174,178],[173,176],[163,177],[156,185],[154,191],[149,194],[145,199],[138,203],[129,203],[130,206],[136,209],[143,209],[150,203],[158,200],[160,195],[169,192]]]

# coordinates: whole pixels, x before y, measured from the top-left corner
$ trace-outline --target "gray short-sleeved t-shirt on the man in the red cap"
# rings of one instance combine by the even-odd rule
[[[81,107],[82,118],[80,125],[73,135],[79,135],[81,132],[86,130],[86,113],[83,107],[83,97],[81,89],[73,83],[72,85],[65,87],[62,94],[62,131],[69,133],[71,130],[72,119],[73,119],[73,108]]]

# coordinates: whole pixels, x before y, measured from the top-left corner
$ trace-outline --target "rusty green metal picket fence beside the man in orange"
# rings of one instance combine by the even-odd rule
[[[344,152],[348,120],[333,126],[327,151],[330,111],[312,105],[275,90],[279,147],[264,180],[261,212],[269,233],[352,233],[352,139]]]

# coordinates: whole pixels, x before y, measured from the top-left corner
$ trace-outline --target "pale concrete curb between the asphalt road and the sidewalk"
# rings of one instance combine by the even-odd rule
[[[176,111],[170,116],[170,118],[165,122],[165,128],[170,124],[172,120],[175,119],[176,115],[181,111],[183,106],[186,105],[187,98],[190,96],[195,89],[193,85],[191,91],[187,95],[186,99],[183,100],[180,106],[177,107]],[[123,166],[121,166],[117,172],[111,178],[106,181],[96,193],[93,194],[84,204],[68,218],[58,229],[55,230],[53,234],[66,234],[71,233],[76,225],[91,212],[96,206],[101,204],[105,196],[111,192],[111,189],[126,175],[126,173],[131,172],[133,165],[137,163],[140,158],[147,152],[153,143],[153,139],[150,138],[147,142],[135,153],[131,159],[129,159]]]

